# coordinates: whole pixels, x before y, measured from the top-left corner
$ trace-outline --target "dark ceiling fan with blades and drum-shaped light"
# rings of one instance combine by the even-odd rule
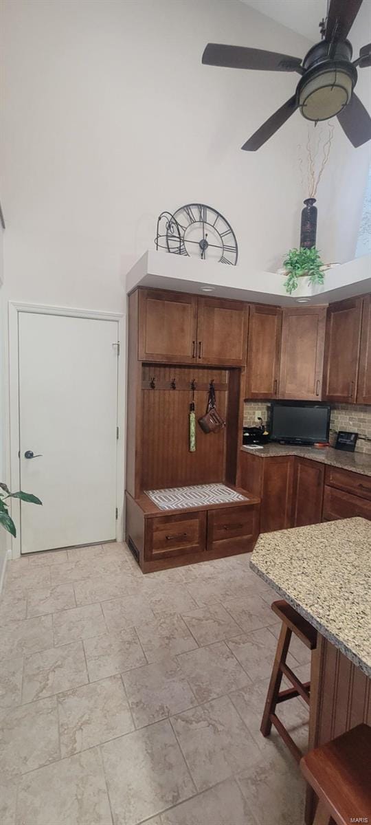
[[[362,0],[330,0],[326,20],[319,24],[322,40],[312,46],[303,62],[289,54],[208,43],[202,55],[203,64],[301,74],[293,97],[265,120],[242,149],[255,152],[297,109],[307,120],[315,122],[337,115],[353,146],[371,139],[371,117],[354,92],[356,67],[371,66],[371,43],[362,47],[352,63],[353,50],[346,39],[361,5]]]

